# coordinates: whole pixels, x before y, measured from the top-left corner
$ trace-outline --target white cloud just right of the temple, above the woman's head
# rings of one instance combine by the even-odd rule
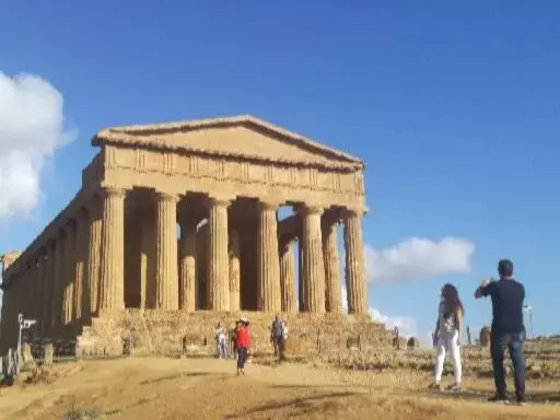
[[[469,272],[474,253],[471,242],[455,237],[441,241],[411,237],[381,250],[365,246],[368,280],[407,282],[429,276]]]

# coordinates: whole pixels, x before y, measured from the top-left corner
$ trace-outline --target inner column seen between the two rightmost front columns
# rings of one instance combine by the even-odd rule
[[[340,260],[338,257],[338,220],[323,218],[323,256],[325,259],[325,301],[327,312],[340,313]]]

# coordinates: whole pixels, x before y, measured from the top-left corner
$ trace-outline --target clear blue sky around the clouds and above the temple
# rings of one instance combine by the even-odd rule
[[[382,314],[425,335],[451,281],[467,323],[483,325],[490,303],[474,289],[510,257],[536,332],[559,331],[559,2],[0,4],[0,71],[48,81],[78,130],[43,168],[39,206],[1,219],[0,250],[24,247],[67,203],[101,128],[254,114],[366,161],[374,249],[475,245],[468,273],[372,283]]]

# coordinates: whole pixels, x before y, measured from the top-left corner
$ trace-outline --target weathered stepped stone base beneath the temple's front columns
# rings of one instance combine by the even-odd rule
[[[241,313],[163,311],[127,311],[94,318],[78,340],[81,355],[118,355],[127,341],[133,341],[135,354],[177,354],[186,345],[202,354],[215,353],[214,328],[218,322],[233,328]],[[272,352],[270,325],[275,314],[243,313],[250,320],[252,351]],[[349,339],[362,340],[362,349],[386,348],[393,345],[393,332],[368,316],[341,314],[284,314],[291,337],[307,343],[310,353],[345,349]],[[205,346],[206,340],[206,346]]]

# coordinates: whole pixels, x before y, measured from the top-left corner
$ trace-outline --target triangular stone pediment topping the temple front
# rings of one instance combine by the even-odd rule
[[[312,166],[363,168],[362,160],[252,116],[108,128],[92,140]]]

